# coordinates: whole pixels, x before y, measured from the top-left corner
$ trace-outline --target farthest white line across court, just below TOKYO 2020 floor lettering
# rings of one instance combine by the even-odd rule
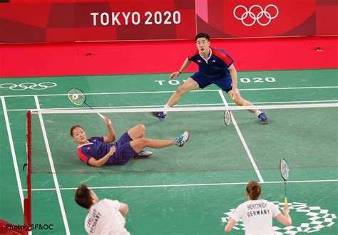
[[[292,87],[292,88],[244,88],[244,90],[297,90],[297,89],[330,89],[338,88],[338,86],[313,86],[313,87]],[[210,92],[218,90],[191,90],[190,92]],[[86,95],[123,95],[123,94],[148,94],[148,93],[174,93],[175,90],[162,90],[162,91],[130,91],[130,92],[113,92],[113,93],[85,93]],[[37,94],[35,94],[37,95]],[[27,97],[35,95],[3,95],[4,97]],[[39,96],[59,96],[67,94],[41,94]]]

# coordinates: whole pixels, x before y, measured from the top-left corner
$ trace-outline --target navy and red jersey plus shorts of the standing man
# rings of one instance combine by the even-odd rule
[[[210,48],[210,56],[206,60],[200,56],[198,49],[195,49],[188,56],[188,60],[198,65],[199,72],[193,74],[191,78],[200,85],[200,88],[215,84],[226,92],[232,90],[232,80],[228,68],[234,61],[225,51]]]

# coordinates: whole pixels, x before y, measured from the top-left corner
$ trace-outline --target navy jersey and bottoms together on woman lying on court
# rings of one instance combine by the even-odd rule
[[[132,140],[128,132],[124,133],[117,142],[113,143],[103,142],[103,137],[90,137],[87,144],[78,146],[78,157],[81,161],[89,164],[88,162],[91,157],[100,160],[108,154],[112,146],[115,146],[116,152],[109,157],[105,165],[126,164],[130,158],[138,155],[130,146],[130,141]]]

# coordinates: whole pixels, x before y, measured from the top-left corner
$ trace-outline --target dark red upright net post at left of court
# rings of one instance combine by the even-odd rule
[[[31,111],[26,113],[27,120],[27,198],[24,199],[24,225],[25,231],[28,233],[31,231]]]

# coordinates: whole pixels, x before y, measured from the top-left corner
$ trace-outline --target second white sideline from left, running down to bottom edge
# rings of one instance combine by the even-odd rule
[[[34,95],[34,100],[35,100],[35,103],[36,103],[36,108],[38,108],[38,110],[39,110],[40,104],[39,104],[39,98],[38,98],[37,95]],[[58,178],[56,177],[56,171],[55,171],[55,167],[54,167],[54,163],[53,163],[53,157],[51,156],[51,149],[50,149],[49,143],[48,143],[46,128],[45,128],[45,125],[43,123],[43,117],[42,117],[41,113],[39,113],[39,120],[40,120],[41,130],[42,130],[42,134],[43,134],[43,140],[45,141],[45,145],[46,145],[46,151],[47,151],[47,155],[48,155],[49,164],[51,165],[51,172],[53,172],[53,174],[52,174],[53,175],[53,181],[54,181],[54,184],[55,184],[55,187],[56,187],[56,194],[58,196],[58,203],[60,204],[63,224],[64,224],[65,229],[66,229],[66,234],[71,234],[71,231],[69,231],[66,211],[65,211],[64,206],[63,206],[60,187],[58,186]]]

